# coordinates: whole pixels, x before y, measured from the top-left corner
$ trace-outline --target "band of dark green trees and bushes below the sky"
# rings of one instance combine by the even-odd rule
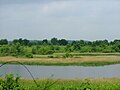
[[[0,40],[0,56],[25,56],[32,58],[34,54],[50,55],[53,53],[115,53],[120,52],[120,39],[108,40],[51,40],[7,39]]]

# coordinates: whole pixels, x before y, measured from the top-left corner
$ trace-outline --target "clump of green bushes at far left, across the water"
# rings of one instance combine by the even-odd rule
[[[2,45],[0,47],[0,56],[33,57],[32,51],[30,51],[29,48],[20,45],[20,43]]]

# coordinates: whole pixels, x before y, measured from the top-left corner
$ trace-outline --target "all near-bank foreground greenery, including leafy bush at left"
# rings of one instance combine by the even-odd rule
[[[6,75],[0,79],[0,90],[119,90],[120,80],[41,80],[37,81],[38,87],[32,80],[21,80],[13,75]]]

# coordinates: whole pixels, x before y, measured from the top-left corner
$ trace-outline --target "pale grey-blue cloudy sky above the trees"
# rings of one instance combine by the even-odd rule
[[[120,0],[0,0],[0,39],[120,39]]]

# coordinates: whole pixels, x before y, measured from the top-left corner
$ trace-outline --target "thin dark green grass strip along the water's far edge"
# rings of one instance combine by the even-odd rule
[[[5,62],[0,62],[3,64]],[[8,64],[19,64],[17,62],[9,62]],[[120,64],[120,61],[116,62],[79,62],[79,63],[47,63],[47,62],[22,62],[25,65],[45,65],[45,66],[105,66],[105,65],[113,65]]]

